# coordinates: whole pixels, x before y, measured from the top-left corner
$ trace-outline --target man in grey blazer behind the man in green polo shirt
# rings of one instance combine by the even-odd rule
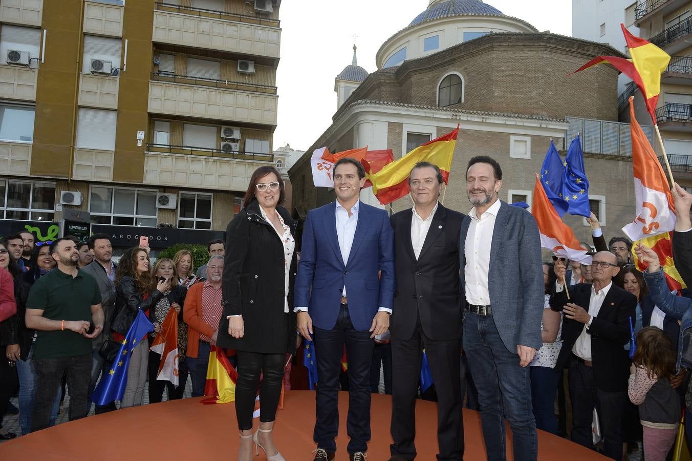
[[[111,333],[113,303],[116,300],[116,264],[111,260],[113,248],[111,247],[111,239],[107,234],[94,234],[89,237],[86,244],[89,246],[89,253],[93,256],[93,261],[86,264],[81,270],[96,279],[98,290],[101,292],[101,305],[104,314],[103,334],[96,336],[92,343],[93,365],[91,366],[91,382],[89,383],[89,396],[91,397],[98,377],[110,366],[109,363],[104,363],[98,350]],[[115,409],[115,406],[111,404],[111,406],[97,406],[95,411],[96,413],[105,413]]]

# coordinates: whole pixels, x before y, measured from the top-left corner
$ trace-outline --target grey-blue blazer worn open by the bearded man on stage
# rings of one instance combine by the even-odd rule
[[[471,217],[464,217],[459,235],[459,290],[464,316],[468,309],[464,294],[464,245],[470,224]],[[536,350],[543,345],[540,336],[545,292],[542,265],[536,219],[527,210],[501,201],[490,248],[488,288],[495,326],[502,343],[513,354],[517,353],[517,345]]]

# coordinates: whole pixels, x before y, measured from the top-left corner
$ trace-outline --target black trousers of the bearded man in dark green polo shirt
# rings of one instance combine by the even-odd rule
[[[70,421],[86,417],[89,410],[86,395],[91,381],[91,352],[72,357],[34,359],[34,363],[38,384],[31,415],[31,432],[46,428],[51,423],[55,394],[64,374],[67,375],[70,392]]]

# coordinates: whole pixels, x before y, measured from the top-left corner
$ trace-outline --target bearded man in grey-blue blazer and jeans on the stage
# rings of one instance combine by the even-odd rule
[[[466,169],[473,209],[462,222],[459,288],[463,345],[478,390],[489,460],[505,460],[504,415],[514,460],[536,460],[538,439],[528,365],[542,344],[543,268],[536,220],[498,199],[500,164],[476,156]]]

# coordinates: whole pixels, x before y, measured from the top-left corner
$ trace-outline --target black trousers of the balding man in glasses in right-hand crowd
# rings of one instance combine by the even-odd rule
[[[605,392],[596,387],[591,367],[572,360],[570,364],[570,399],[572,399],[572,442],[593,449],[591,422],[594,408],[601,423],[603,454],[613,460],[622,459],[622,413],[627,391]]]

